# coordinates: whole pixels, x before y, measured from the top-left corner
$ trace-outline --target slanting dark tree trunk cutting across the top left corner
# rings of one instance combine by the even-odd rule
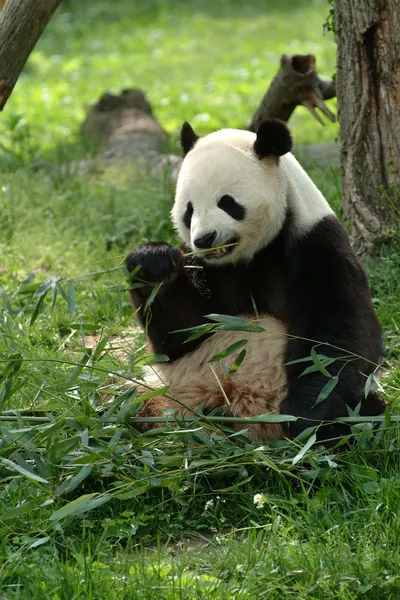
[[[0,12],[0,110],[61,0],[8,0]]]

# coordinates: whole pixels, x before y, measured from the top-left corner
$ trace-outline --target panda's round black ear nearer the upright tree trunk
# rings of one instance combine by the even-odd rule
[[[258,158],[283,156],[293,148],[293,139],[287,125],[279,119],[265,119],[257,129],[254,152]]]

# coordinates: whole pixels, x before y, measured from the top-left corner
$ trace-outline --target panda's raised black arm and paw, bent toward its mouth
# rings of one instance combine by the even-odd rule
[[[129,294],[139,321],[153,351],[166,354],[171,360],[193,350],[204,340],[201,337],[185,343],[187,332],[172,332],[204,323],[204,315],[210,312],[192,281],[192,269],[184,268],[185,262],[180,249],[164,242],[143,244],[125,260],[128,272],[134,272]],[[134,287],[141,282],[148,285]],[[156,286],[156,294],[151,299]]]

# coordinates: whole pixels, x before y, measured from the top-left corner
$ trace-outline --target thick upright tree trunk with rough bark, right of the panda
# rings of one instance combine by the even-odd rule
[[[343,216],[370,254],[400,211],[400,0],[336,0],[335,28]]]

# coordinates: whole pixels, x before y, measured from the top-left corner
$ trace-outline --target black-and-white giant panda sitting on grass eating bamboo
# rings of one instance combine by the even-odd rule
[[[171,215],[182,246],[146,243],[126,258],[131,300],[151,349],[170,359],[156,368],[156,385],[169,385],[168,394],[145,402],[139,414],[173,408],[297,417],[287,426],[248,428],[251,439],[272,440],[346,416],[359,403],[361,414],[381,413],[380,398],[364,394],[382,350],[367,277],[344,228],[291,154],[287,126],[269,119],[257,133],[222,129],[199,138],[184,123],[181,146]],[[264,331],[220,331],[189,342],[188,332],[178,331],[210,322],[212,313],[242,316]],[[247,353],[235,373],[210,363],[243,339]],[[328,371],[338,376],[319,403],[328,378],[316,368],[302,376],[313,363],[299,361],[313,348],[336,359]],[[229,366],[236,355],[222,362]],[[320,438],[334,438],[342,427],[320,427]]]

